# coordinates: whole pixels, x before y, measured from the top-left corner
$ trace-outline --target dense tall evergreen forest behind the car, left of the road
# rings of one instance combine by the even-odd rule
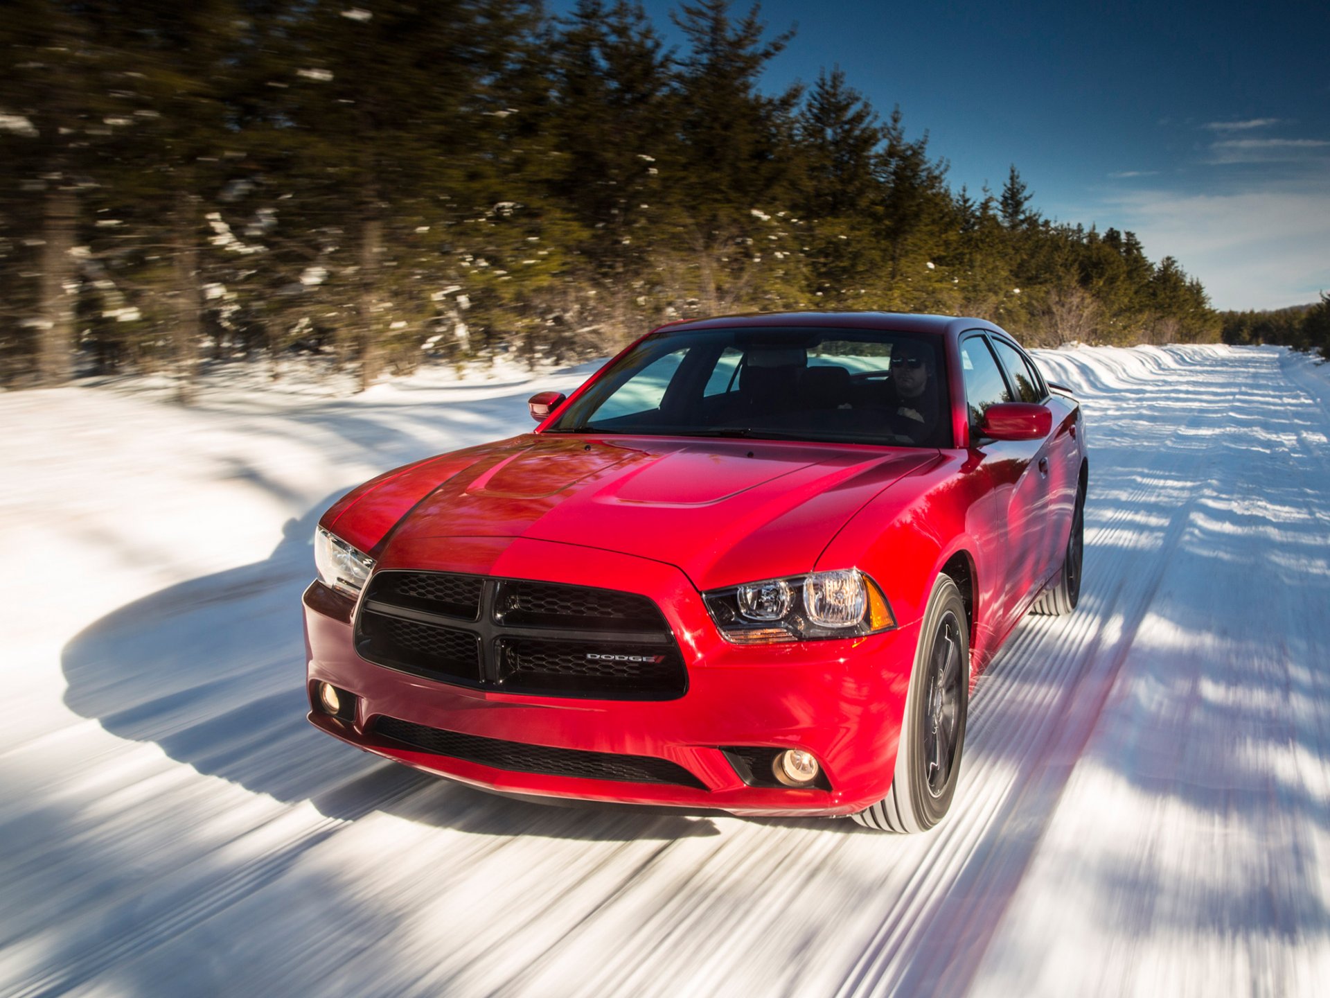
[[[791,36],[757,5],[672,16],[678,45],[626,0],[8,0],[0,386],[165,371],[188,401],[201,365],[297,354],[364,386],[778,309],[1225,331],[1177,259],[1044,217],[1015,165],[954,189],[927,122],[839,68],[765,86]]]

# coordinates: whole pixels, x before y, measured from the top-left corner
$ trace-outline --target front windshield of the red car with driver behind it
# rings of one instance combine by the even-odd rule
[[[664,331],[547,432],[950,447],[940,339],[850,329]]]

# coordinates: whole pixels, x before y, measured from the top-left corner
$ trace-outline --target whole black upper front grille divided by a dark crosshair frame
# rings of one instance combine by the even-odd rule
[[[660,608],[584,585],[382,571],[360,601],[355,647],[388,668],[509,693],[673,700],[688,689]]]

